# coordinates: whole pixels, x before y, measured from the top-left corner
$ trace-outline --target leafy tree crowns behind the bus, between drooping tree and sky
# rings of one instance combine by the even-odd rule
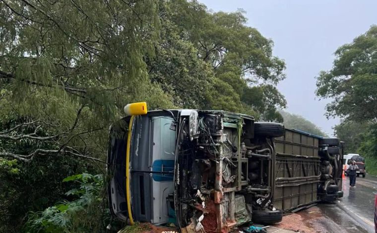
[[[245,25],[244,12],[211,13],[197,1],[162,1],[160,20],[162,40],[147,59],[149,75],[176,106],[282,120],[276,108],[286,102],[275,85],[285,78],[284,61],[272,56],[271,40]]]

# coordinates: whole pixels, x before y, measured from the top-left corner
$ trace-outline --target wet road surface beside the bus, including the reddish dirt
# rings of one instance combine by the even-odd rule
[[[305,233],[374,233],[377,177],[356,178],[356,188],[343,179],[343,198],[284,216],[277,227]]]

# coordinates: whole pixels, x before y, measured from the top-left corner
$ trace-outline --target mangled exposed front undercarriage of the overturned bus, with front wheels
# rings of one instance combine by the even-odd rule
[[[251,220],[281,221],[271,199],[273,137],[280,136],[284,126],[200,111],[198,133],[192,138],[189,121],[181,115],[178,122],[174,180],[178,226],[185,231],[221,232]]]

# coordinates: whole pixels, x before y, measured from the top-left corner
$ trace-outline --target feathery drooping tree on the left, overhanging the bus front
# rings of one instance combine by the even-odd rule
[[[2,0],[0,138],[35,146],[22,153],[3,147],[0,156],[95,159],[105,155],[108,125],[127,102],[171,106],[150,83],[143,60],[154,53],[156,5],[155,0]]]

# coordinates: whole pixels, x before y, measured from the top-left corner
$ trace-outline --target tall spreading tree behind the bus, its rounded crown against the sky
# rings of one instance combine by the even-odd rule
[[[271,40],[246,25],[243,11],[212,13],[195,0],[169,1],[168,8],[169,19],[178,25],[180,37],[192,43],[197,57],[210,64],[214,77],[221,80],[215,81],[215,86],[220,88],[221,83],[221,88],[211,92],[228,89],[225,83],[233,88],[234,97],[225,108],[244,105],[265,120],[281,119],[276,109],[284,108],[286,101],[275,85],[285,78],[285,63],[272,55]],[[255,101],[250,98],[253,91],[258,93]]]

